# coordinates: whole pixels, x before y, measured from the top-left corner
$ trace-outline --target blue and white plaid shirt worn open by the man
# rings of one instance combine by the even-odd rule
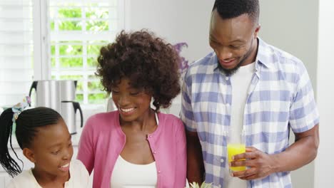
[[[243,115],[246,145],[268,154],[289,146],[289,130],[305,132],[319,122],[313,88],[303,63],[258,38],[255,73]],[[231,122],[231,78],[218,68],[210,53],[191,64],[182,87],[181,119],[198,132],[206,182],[223,187],[227,164],[226,132]],[[248,187],[292,187],[290,172],[248,181]]]

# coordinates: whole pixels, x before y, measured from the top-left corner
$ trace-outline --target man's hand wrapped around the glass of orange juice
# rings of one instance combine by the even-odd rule
[[[233,177],[239,177],[244,180],[261,179],[275,172],[275,160],[273,156],[265,154],[255,147],[246,147],[245,153],[235,155],[230,166],[248,167],[244,171],[232,172],[231,174]]]

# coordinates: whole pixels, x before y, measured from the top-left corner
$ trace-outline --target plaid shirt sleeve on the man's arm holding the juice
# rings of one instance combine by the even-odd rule
[[[289,122],[293,132],[305,132],[319,123],[312,84],[303,64],[299,75],[296,93],[290,105]]]

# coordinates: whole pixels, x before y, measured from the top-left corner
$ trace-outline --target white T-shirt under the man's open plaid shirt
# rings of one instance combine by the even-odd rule
[[[241,66],[236,73],[231,76],[232,85],[232,104],[231,104],[231,128],[229,136],[234,142],[241,142],[241,132],[243,131],[243,114],[245,110],[248,88],[255,72],[255,63]],[[226,163],[228,165],[228,163]],[[228,171],[228,167],[226,170]],[[231,177],[226,173],[226,187],[247,187],[247,181],[238,177]]]

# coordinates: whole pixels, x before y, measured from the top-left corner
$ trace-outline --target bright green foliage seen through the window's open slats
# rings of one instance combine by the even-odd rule
[[[61,9],[51,9],[51,31],[108,31],[109,12],[107,8],[83,6],[73,8],[76,4],[66,4]],[[67,6],[67,7],[66,7]],[[84,11],[83,11],[84,9]],[[56,12],[56,14],[55,14]],[[55,16],[56,15],[56,16]],[[58,26],[58,28],[56,28]],[[109,41],[52,41],[51,42],[51,68],[74,69],[80,74],[83,63],[89,70],[96,70],[96,58],[101,46]],[[85,49],[86,48],[86,49]],[[56,52],[58,50],[58,52]],[[83,51],[86,51],[84,56]],[[58,56],[58,59],[56,59]],[[57,66],[58,61],[58,66]],[[55,78],[54,76],[52,76]],[[88,87],[88,103],[105,103],[108,97],[103,91],[99,78],[96,75],[88,75],[88,80],[84,80],[83,75],[61,75],[61,80],[78,80],[76,89],[76,100],[83,102],[83,86]]]

